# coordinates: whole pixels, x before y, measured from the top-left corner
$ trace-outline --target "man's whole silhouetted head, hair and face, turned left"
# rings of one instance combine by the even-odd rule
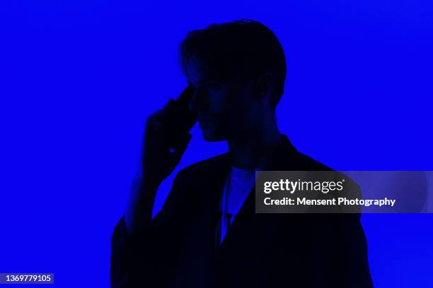
[[[284,92],[286,59],[262,23],[238,20],[194,30],[180,44],[180,62],[195,95],[190,107],[209,141],[253,133],[274,116]]]

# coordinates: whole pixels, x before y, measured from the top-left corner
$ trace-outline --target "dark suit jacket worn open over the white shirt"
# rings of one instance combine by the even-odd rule
[[[255,214],[254,189],[221,245],[217,205],[229,153],[175,177],[149,227],[112,235],[112,287],[373,287],[359,214]],[[328,171],[282,136],[267,170]]]

